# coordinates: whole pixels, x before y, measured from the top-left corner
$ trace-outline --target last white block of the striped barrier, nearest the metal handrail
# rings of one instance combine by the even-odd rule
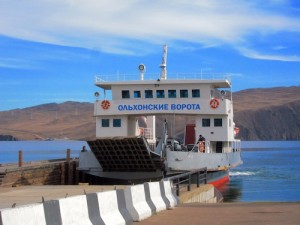
[[[171,182],[168,180],[160,181],[162,198],[167,204],[167,208],[174,208],[179,203],[179,199],[172,190]]]

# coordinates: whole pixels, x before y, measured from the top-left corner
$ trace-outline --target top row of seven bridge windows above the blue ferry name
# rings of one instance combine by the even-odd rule
[[[153,90],[145,90],[145,98],[153,98],[154,96]],[[155,91],[156,98],[177,98],[177,90],[156,90]],[[133,91],[133,98],[141,98],[141,91]],[[189,91],[187,89],[179,90],[180,98],[188,98]],[[193,98],[200,98],[200,89],[192,89],[192,97]],[[122,91],[122,98],[130,98],[130,91],[123,90]]]

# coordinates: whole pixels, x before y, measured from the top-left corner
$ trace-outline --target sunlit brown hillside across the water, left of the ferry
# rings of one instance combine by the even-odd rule
[[[0,112],[0,134],[12,135],[18,139],[93,137],[93,104],[51,103]]]

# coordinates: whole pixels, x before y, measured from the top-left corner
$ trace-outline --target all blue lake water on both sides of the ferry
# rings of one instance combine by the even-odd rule
[[[85,141],[0,141],[0,164],[60,159],[71,149],[78,157]],[[243,165],[230,171],[221,187],[226,202],[300,201],[300,141],[243,141]]]

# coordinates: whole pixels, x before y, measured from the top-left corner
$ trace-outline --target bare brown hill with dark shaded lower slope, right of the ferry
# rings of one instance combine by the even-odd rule
[[[300,87],[249,89],[233,95],[243,140],[300,140]]]

